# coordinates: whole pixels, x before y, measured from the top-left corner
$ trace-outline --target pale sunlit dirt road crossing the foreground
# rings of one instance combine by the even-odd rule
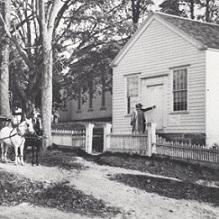
[[[104,200],[109,206],[119,207],[121,213],[115,219],[217,219],[219,207],[208,203],[190,200],[176,200],[154,193],[131,188],[109,180],[117,173],[147,174],[109,166],[99,166],[80,157],[77,162],[85,165],[82,171],[63,170],[57,167],[15,166],[13,163],[0,163],[0,168],[32,181],[41,181],[48,186],[55,182],[67,182],[95,198]],[[148,174],[153,176],[152,174]],[[154,177],[163,177],[154,175]],[[177,179],[173,179],[177,180]],[[0,218],[10,219],[86,219],[87,216],[62,212],[57,209],[42,208],[22,203],[18,206],[0,206]]]

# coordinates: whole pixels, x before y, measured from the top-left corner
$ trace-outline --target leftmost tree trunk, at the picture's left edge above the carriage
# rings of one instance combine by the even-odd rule
[[[4,20],[5,25],[10,29],[10,13],[11,2],[9,0],[4,1]],[[1,80],[0,80],[0,104],[1,114],[10,117],[10,98],[9,98],[9,39],[5,39],[5,44],[2,47],[2,63],[1,63]]]

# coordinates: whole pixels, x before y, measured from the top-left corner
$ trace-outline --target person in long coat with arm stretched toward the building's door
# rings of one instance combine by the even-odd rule
[[[142,108],[141,103],[135,105],[135,110],[131,115],[132,133],[144,133],[145,131],[145,112],[154,109],[156,106]]]

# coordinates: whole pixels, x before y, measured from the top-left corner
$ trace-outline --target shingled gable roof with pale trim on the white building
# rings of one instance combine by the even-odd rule
[[[141,36],[154,19],[167,26],[173,32],[179,34],[198,49],[219,49],[219,25],[159,12],[152,12],[132,38],[127,42],[125,47],[115,57],[111,64],[112,66],[116,66],[119,63],[126,52],[132,47],[135,41]]]

